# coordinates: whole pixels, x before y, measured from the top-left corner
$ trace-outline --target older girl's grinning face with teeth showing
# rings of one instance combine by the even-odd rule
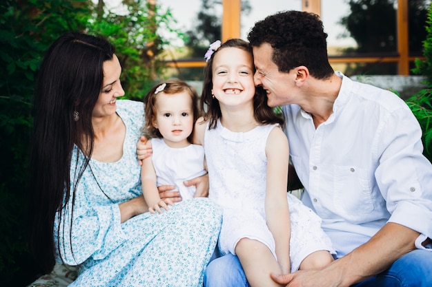
[[[225,47],[217,51],[212,70],[213,94],[221,105],[239,105],[255,95],[253,59],[245,50]]]

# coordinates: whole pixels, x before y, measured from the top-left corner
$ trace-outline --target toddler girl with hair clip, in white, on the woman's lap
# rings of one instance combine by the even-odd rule
[[[183,182],[203,176],[204,149],[190,143],[195,120],[199,116],[197,92],[183,81],[165,81],[153,87],[144,98],[146,125],[144,134],[153,149],[143,160],[141,182],[149,211],[161,213],[173,205],[172,198],[161,200],[157,187],[173,185],[183,200],[206,196],[195,194],[194,186]]]

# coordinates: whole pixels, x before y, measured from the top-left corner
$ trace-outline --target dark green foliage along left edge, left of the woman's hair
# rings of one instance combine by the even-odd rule
[[[28,259],[23,215],[35,72],[53,38],[65,30],[84,28],[84,10],[75,4],[0,3],[0,282],[5,283],[1,286],[15,285],[8,280],[21,271],[20,260]]]

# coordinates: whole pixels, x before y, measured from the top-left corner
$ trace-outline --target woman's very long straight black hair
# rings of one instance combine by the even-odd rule
[[[63,204],[71,196],[74,204],[77,182],[92,154],[92,110],[104,83],[104,61],[112,59],[114,52],[114,47],[101,36],[69,32],[52,43],[37,74],[30,142],[28,231],[30,251],[46,273],[55,264],[53,236],[59,232],[54,231],[55,214],[59,212],[60,222]],[[75,112],[78,120],[74,119]],[[74,144],[87,160],[77,167],[77,176],[70,178]]]

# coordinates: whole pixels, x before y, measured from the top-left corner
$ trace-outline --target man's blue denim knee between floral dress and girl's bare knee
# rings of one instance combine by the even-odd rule
[[[204,274],[205,287],[250,287],[239,258],[228,254],[210,261]]]

